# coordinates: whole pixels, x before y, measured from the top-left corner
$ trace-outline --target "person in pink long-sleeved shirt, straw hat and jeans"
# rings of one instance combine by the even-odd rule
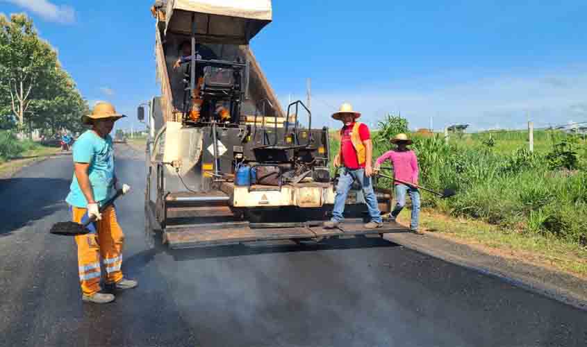
[[[393,166],[393,177],[402,180],[404,182],[413,183],[417,185],[418,167],[417,158],[411,149],[408,149],[408,145],[412,144],[411,139],[408,139],[406,134],[398,134],[392,140],[392,144],[397,146],[392,151],[383,153],[381,157],[377,158],[375,162],[374,171],[379,171],[381,163],[386,160],[390,160]],[[417,187],[413,185],[405,185],[404,183],[395,183],[395,208],[391,212],[391,219],[395,221],[399,212],[406,205],[406,194],[410,194],[412,200],[412,219],[410,223],[410,229],[418,235],[422,235],[418,231],[418,219],[420,218],[420,192]]]

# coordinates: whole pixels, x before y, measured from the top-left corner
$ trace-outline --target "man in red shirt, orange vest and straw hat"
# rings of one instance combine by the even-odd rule
[[[340,175],[334,197],[334,209],[332,219],[324,223],[324,228],[336,228],[344,219],[342,213],[345,212],[345,201],[354,181],[361,185],[371,217],[371,221],[365,224],[365,228],[375,229],[383,226],[371,182],[373,144],[369,128],[357,122],[358,117],[361,117],[361,113],[354,112],[349,103],[343,103],[340,110],[332,115],[333,119],[342,121],[344,126],[340,130],[340,150],[334,158],[334,166],[338,168]]]

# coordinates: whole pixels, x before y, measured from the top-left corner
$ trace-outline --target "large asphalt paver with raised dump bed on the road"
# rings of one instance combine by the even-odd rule
[[[161,96],[149,102],[147,237],[171,248],[383,234],[366,230],[360,190],[348,219],[324,229],[335,196],[329,129],[301,101],[286,112],[249,41],[272,20],[270,0],[169,0],[156,18]],[[139,108],[139,117],[144,110]],[[382,212],[390,192],[377,191]]]

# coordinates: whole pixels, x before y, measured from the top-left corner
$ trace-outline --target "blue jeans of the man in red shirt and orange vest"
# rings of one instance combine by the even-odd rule
[[[367,204],[367,210],[371,216],[371,221],[375,223],[382,223],[381,212],[377,207],[377,197],[373,191],[373,185],[371,184],[371,178],[365,176],[365,169],[351,170],[342,167],[340,170],[340,176],[338,177],[338,185],[336,186],[336,196],[334,197],[334,210],[332,211],[331,221],[342,221],[345,217],[342,217],[342,212],[345,212],[345,201],[347,200],[347,194],[356,180],[363,190],[365,196],[365,203]]]

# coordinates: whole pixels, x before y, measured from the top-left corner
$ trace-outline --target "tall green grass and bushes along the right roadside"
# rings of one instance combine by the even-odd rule
[[[379,122],[374,158],[392,149],[390,139],[397,133],[409,133],[406,119],[389,115]],[[447,199],[424,192],[424,209],[488,223],[502,236],[587,246],[587,150],[581,135],[535,131],[534,152],[528,149],[527,132],[451,134],[448,144],[443,134],[411,137],[420,184],[458,192]],[[336,135],[331,148],[338,148]]]

